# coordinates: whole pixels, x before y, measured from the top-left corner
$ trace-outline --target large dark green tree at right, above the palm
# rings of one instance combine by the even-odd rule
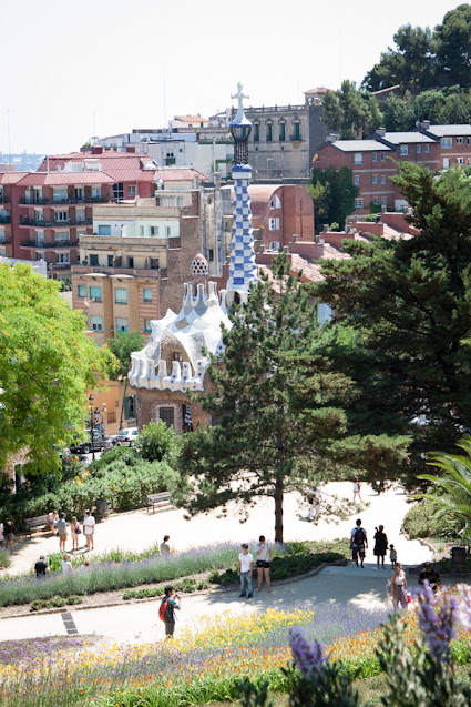
[[[313,290],[356,332],[330,351],[361,391],[355,428],[412,434],[420,463],[471,420],[471,171],[398,171],[418,235],[345,241],[350,259],[326,262]]]

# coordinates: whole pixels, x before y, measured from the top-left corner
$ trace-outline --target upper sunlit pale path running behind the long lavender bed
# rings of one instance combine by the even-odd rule
[[[351,484],[332,483],[322,487],[330,499],[331,494],[351,499]],[[392,488],[385,494],[376,494],[371,487],[362,487],[364,501],[369,505],[361,511],[364,527],[370,536],[369,556],[372,559],[372,534],[375,526],[382,523],[389,542],[398,549],[398,558],[405,564],[423,562],[430,556],[427,548],[416,541],[406,541],[399,534],[403,516],[408,511],[405,493],[399,488]],[[285,539],[334,539],[348,537],[355,525],[358,514],[339,523],[332,519],[322,519],[318,525],[307,523],[307,507],[303,504],[298,494],[288,494],[285,499],[284,525]],[[171,545],[176,549],[197,547],[214,542],[236,541],[244,542],[258,538],[260,533],[268,538],[274,536],[274,502],[270,498],[260,498],[249,509],[248,521],[239,522],[239,514],[235,505],[231,506],[227,516],[217,517],[213,511],[208,515],[201,515],[191,521],[185,521],[184,512],[170,509],[161,513],[147,513],[135,511],[133,513],[115,514],[107,521],[100,523],[95,532],[95,551],[103,552],[120,547],[122,549],[143,551],[155,542],[162,542],[164,534],[171,536]],[[68,542],[68,548],[71,542]],[[83,552],[83,535],[80,541]],[[48,555],[59,549],[59,539],[50,534],[35,533],[30,539],[16,543],[10,574],[28,572],[34,565],[39,555]],[[93,553],[90,553],[93,562]]]

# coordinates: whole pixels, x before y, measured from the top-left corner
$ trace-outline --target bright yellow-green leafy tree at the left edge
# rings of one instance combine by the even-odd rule
[[[83,431],[94,372],[113,361],[59,291],[30,265],[0,265],[0,468],[24,448],[30,471],[58,469],[59,452]]]

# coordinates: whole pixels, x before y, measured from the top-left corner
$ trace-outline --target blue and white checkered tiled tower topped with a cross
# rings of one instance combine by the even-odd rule
[[[226,285],[226,306],[234,301],[247,300],[252,282],[257,281],[257,265],[255,264],[254,235],[252,228],[250,196],[248,183],[252,178],[252,168],[248,162],[248,137],[252,123],[244,113],[243,99],[248,98],[242,92],[242,84],[237,84],[238,92],[231,98],[238,100],[237,113],[229,123],[234,138],[234,166],[232,175],[234,180],[234,225],[231,251],[229,279]]]

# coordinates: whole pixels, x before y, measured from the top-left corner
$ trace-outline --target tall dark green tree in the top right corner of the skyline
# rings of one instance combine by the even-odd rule
[[[440,78],[448,85],[471,87],[471,6],[450,10],[434,30]]]

